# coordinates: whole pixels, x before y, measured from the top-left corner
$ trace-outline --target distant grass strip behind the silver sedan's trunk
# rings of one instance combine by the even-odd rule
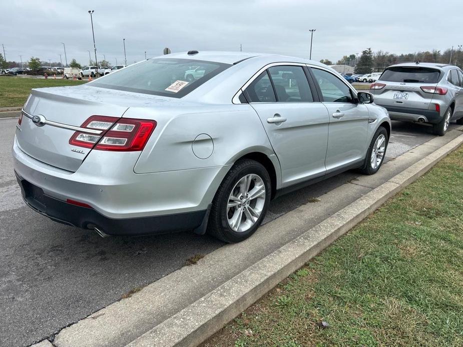
[[[0,77],[0,107],[22,106],[26,102],[32,88],[50,86],[78,85],[82,80],[61,79],[53,76],[49,79],[2,76]]]

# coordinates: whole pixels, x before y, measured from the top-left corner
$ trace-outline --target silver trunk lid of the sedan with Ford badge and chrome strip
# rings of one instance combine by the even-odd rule
[[[92,115],[121,118],[130,106],[151,105],[158,98],[166,99],[85,85],[33,89],[16,131],[18,145],[37,160],[75,172],[92,148],[69,144],[76,131],[72,126],[80,127]],[[43,116],[47,123],[38,125],[34,115]]]

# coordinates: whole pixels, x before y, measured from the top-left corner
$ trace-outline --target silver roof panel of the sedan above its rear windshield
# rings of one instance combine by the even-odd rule
[[[263,58],[269,62],[299,62],[299,63],[310,63],[312,65],[326,66],[319,61],[304,59],[296,56],[289,55],[279,55],[279,54],[269,54],[269,53],[253,53],[253,52],[234,52],[234,51],[211,51],[203,50],[198,53],[188,54],[188,52],[180,53],[171,53],[167,55],[161,55],[156,58],[180,58],[180,59],[195,59],[195,60],[206,60],[206,61],[216,61],[225,64],[238,63],[242,60],[247,60],[250,58]]]

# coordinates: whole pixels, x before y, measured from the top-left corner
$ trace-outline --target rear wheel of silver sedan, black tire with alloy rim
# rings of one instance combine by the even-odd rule
[[[253,191],[257,194],[254,198],[248,195]],[[225,242],[248,238],[264,219],[270,196],[270,176],[260,162],[251,159],[235,162],[212,201],[208,233]]]

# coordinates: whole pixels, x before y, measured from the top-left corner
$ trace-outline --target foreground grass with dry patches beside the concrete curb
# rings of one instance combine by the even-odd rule
[[[203,344],[312,345],[463,345],[463,147]]]

